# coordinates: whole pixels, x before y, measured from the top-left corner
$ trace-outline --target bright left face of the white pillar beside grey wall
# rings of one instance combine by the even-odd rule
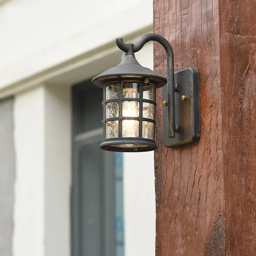
[[[44,256],[44,87],[14,100],[12,254]]]

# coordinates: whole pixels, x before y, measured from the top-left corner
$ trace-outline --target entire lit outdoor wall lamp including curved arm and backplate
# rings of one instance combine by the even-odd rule
[[[156,41],[164,47],[167,77],[142,67],[136,60],[134,53],[149,41]],[[197,68],[174,73],[172,47],[157,34],[146,34],[135,45],[125,44],[119,37],[116,44],[125,52],[123,60],[92,79],[94,85],[103,88],[104,138],[100,148],[121,152],[157,148],[154,139],[156,88],[160,87],[163,87],[164,145],[173,148],[196,143],[200,139]]]

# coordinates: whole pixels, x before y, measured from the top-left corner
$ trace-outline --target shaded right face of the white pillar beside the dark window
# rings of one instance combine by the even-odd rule
[[[44,111],[45,256],[70,256],[71,88],[45,86]]]

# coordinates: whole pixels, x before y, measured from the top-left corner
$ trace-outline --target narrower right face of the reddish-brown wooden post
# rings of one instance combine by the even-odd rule
[[[256,1],[220,0],[226,255],[256,255]]]

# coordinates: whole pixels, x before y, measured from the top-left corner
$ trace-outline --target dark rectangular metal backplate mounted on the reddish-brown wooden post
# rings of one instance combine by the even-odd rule
[[[174,73],[175,124],[179,125],[173,139],[168,137],[168,107],[163,106],[164,146],[167,148],[194,144],[200,140],[199,76],[197,68],[185,68]],[[163,101],[167,102],[167,84],[163,87]],[[188,97],[181,100],[182,95]],[[168,102],[167,102],[168,104]]]

